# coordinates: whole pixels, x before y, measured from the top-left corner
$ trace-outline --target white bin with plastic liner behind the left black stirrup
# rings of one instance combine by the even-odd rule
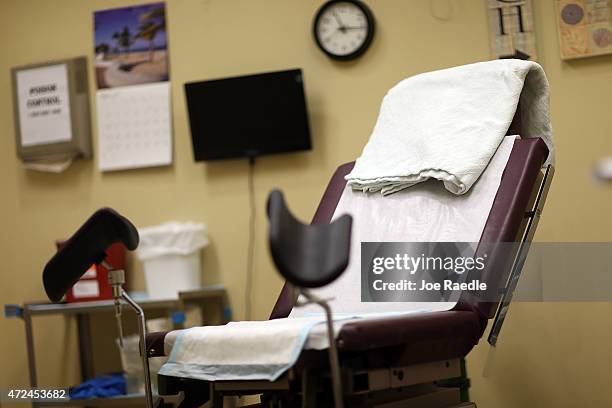
[[[202,286],[200,250],[208,245],[204,224],[170,222],[138,233],[137,255],[144,263],[149,297],[176,298]]]

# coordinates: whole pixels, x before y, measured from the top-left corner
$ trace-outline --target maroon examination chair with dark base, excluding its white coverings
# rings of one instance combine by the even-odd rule
[[[518,115],[508,134],[520,134]],[[261,394],[261,404],[257,406],[262,407],[334,406],[335,358],[339,361],[344,406],[475,406],[468,402],[469,381],[463,358],[478,343],[491,319],[494,321],[488,341],[492,345],[497,341],[552,179],[553,167],[542,167],[547,155],[548,148],[542,140],[516,139],[503,170],[477,249],[492,251],[480,279],[489,287],[504,288],[495,302],[464,292],[452,310],[349,322],[337,333],[332,342],[335,347],[329,351],[303,350],[297,363],[276,381],[206,382],[159,375],[160,394],[183,393],[182,407],[204,403],[220,407],[225,396],[249,394]],[[344,176],[353,165],[343,164],[334,173],[314,215],[312,228],[330,223],[346,186]],[[269,216],[273,224],[273,214]],[[272,256],[279,267],[282,255],[275,251],[272,235],[271,232]],[[505,246],[502,251],[496,250],[496,243],[515,244]],[[293,255],[297,264],[305,261],[298,254]],[[299,277],[283,272],[282,267],[279,269],[288,283],[270,319],[289,316],[297,299],[293,289],[296,285],[309,286]],[[169,346],[165,344],[167,334],[147,335],[150,357],[169,354]],[[333,356],[336,349],[337,356]]]

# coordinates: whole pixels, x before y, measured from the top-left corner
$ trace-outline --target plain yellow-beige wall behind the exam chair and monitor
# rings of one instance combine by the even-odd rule
[[[108,205],[145,226],[194,220],[209,227],[207,283],[224,283],[235,315],[243,315],[247,248],[245,161],[194,163],[183,83],[302,67],[312,122],[311,153],[257,163],[256,318],[266,318],[281,287],[265,241],[264,203],[283,189],[292,209],[312,216],[333,169],[354,159],[372,129],[385,91],[432,69],[489,58],[487,17],[480,0],[370,0],[378,31],[360,60],[334,63],[315,47],[311,22],[320,1],[172,0],[168,29],[174,119],[174,165],[100,173],[97,158],[61,175],[24,170],[15,156],[9,69],[78,55],[92,57],[92,12],[124,6],[116,0],[0,1],[0,300],[44,298],[41,269],[53,241]],[[534,0],[540,61],[552,87],[558,172],[538,239],[609,240],[612,190],[590,177],[594,161],[612,152],[612,57],[559,59],[553,1]],[[430,4],[451,7],[451,19]],[[90,73],[93,73],[90,66]],[[93,76],[91,76],[93,78]],[[94,83],[90,78],[94,103]],[[95,123],[95,110],[93,115]],[[94,142],[95,142],[94,132]],[[134,278],[142,286],[142,277]],[[612,288],[611,288],[612,289]],[[487,348],[470,355],[472,395],[481,406],[609,406],[612,306],[516,305],[504,327],[493,376],[482,378]],[[71,320],[40,319],[36,331],[43,385],[77,380]],[[28,381],[23,325],[0,319],[0,388]]]

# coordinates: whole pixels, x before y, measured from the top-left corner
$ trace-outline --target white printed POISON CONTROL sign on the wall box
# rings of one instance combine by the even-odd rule
[[[22,146],[72,138],[68,69],[65,64],[17,72],[17,108]]]

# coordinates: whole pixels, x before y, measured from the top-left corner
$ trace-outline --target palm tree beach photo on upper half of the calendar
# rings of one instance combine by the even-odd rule
[[[169,80],[164,3],[96,11],[94,39],[98,89]]]

